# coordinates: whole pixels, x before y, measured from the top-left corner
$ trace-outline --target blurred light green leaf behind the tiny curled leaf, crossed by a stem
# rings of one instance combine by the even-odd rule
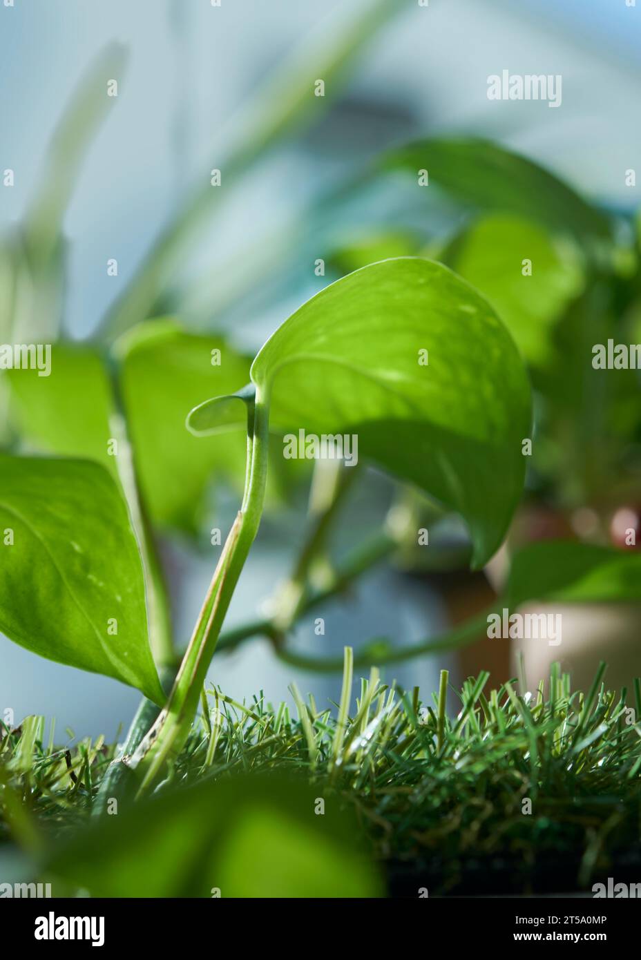
[[[249,358],[220,337],[191,336],[171,320],[133,328],[117,352],[147,512],[158,526],[195,534],[212,480],[242,489],[247,444],[237,432],[222,435],[215,444],[199,444],[186,430],[185,417],[203,396],[249,379]],[[213,365],[219,359],[220,365]],[[12,370],[8,379],[12,420],[27,445],[96,460],[117,476],[117,460],[107,453],[111,384],[94,348],[56,344],[49,376]]]

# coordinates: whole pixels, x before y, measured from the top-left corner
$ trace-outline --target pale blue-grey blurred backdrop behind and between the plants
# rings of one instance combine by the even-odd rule
[[[612,205],[635,202],[623,171],[641,164],[641,0],[635,7],[626,0],[430,0],[427,9],[415,0],[390,2],[407,11],[360,58],[335,121],[320,136],[282,151],[249,181],[215,230],[202,236],[185,276],[196,262],[206,268],[248,240],[260,258],[261,235],[296,212],[319,182],[399,136],[480,133],[541,160],[588,196]],[[47,143],[90,60],[110,39],[131,51],[117,106],[92,144],[65,221],[71,243],[65,325],[77,337],[95,328],[155,232],[193,182],[217,165],[241,105],[273,67],[327,15],[359,6],[351,0],[223,0],[220,8],[209,0],[3,3],[0,168],[12,167],[16,182],[0,188],[2,230],[20,218],[38,179],[46,177]],[[561,74],[561,108],[490,103],[487,76],[503,68]],[[112,256],[119,261],[117,289],[105,271]],[[258,347],[292,305],[277,303],[236,332]],[[375,519],[365,511],[359,522]],[[288,532],[272,531],[259,544],[233,620],[269,594],[285,569],[290,540]],[[188,551],[173,563],[178,633],[186,636],[210,570]],[[378,571],[350,605],[328,614],[327,632],[337,647],[386,631],[407,641],[439,629],[442,617],[424,589]],[[423,662],[402,675],[429,686],[435,671]],[[337,696],[334,679],[297,676],[274,663],[260,640],[217,660],[210,677],[234,697],[263,688],[279,699],[293,679],[321,700]],[[39,712],[79,735],[110,735],[129,720],[137,699],[120,684],[39,660],[0,637],[0,708],[12,707],[16,719]]]

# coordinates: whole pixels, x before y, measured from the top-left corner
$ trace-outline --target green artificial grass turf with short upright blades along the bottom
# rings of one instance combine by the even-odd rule
[[[621,879],[641,867],[641,684],[609,691],[604,672],[572,692],[555,666],[549,684],[520,693],[516,682],[487,689],[487,673],[455,691],[443,671],[428,704],[372,670],[350,711],[346,656],[330,708],[296,686],[296,710],[210,690],[167,782],[302,773],[356,809],[392,892],[589,890],[614,867]],[[38,826],[59,833],[85,819],[114,755],[102,738],[44,744],[43,728],[30,717],[2,729],[5,840],[28,844]]]

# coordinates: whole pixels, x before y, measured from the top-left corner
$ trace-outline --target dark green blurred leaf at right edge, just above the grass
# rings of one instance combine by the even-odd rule
[[[641,602],[641,553],[573,540],[541,540],[514,557],[506,591],[510,604]]]

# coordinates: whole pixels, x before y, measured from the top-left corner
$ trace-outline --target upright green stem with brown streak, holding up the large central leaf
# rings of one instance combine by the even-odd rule
[[[260,524],[267,479],[268,443],[269,404],[256,393],[248,403],[248,471],[243,503],[214,571],[167,706],[160,712],[132,759],[131,766],[136,768],[140,782],[139,794],[148,790],[166,763],[178,756],[189,735],[209,662]]]

